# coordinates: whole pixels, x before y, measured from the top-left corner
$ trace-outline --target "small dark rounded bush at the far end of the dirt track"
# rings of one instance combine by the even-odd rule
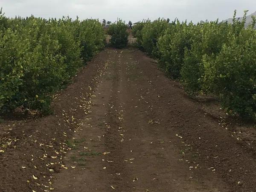
[[[127,25],[122,20],[112,23],[108,28],[108,35],[111,35],[110,45],[122,49],[128,44]]]

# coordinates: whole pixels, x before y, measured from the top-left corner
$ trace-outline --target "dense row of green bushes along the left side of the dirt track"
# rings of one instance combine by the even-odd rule
[[[0,12],[0,112],[49,111],[51,96],[105,46],[98,20],[6,18]]]

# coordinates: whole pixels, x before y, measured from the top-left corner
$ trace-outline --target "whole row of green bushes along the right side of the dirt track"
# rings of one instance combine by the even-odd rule
[[[200,22],[158,19],[134,27],[138,46],[182,82],[190,96],[218,96],[228,113],[256,118],[256,30],[243,20]]]

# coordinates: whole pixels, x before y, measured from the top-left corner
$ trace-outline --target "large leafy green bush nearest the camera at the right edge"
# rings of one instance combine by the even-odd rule
[[[214,60],[204,57],[205,84],[220,96],[228,113],[256,118],[255,52],[256,31],[247,29],[233,35]]]

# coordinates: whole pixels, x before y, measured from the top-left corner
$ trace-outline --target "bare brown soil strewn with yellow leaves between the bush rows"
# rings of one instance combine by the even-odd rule
[[[52,107],[0,124],[0,191],[256,191],[252,126],[189,99],[143,52],[105,49]]]

